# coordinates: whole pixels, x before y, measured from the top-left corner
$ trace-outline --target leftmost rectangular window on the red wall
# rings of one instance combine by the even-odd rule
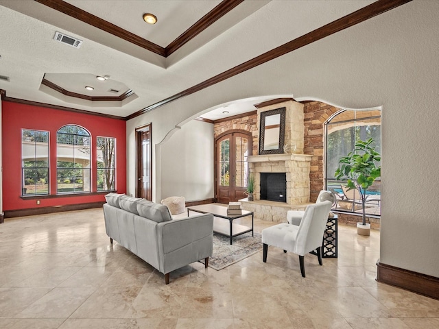
[[[49,194],[49,132],[21,130],[21,195]]]

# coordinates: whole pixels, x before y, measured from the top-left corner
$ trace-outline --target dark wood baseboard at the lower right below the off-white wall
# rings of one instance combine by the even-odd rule
[[[377,262],[377,281],[439,300],[439,278]]]

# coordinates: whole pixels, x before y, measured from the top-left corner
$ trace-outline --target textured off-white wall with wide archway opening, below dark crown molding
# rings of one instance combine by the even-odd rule
[[[158,143],[206,108],[261,95],[382,106],[380,261],[439,277],[438,14],[439,1],[412,1],[128,121],[128,191],[136,126],[152,122]]]

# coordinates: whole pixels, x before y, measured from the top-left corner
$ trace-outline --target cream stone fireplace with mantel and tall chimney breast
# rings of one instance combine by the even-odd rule
[[[254,218],[275,222],[286,221],[288,210],[304,210],[309,204],[309,172],[313,158],[303,154],[305,125],[302,103],[284,99],[279,103],[258,108],[258,131],[261,112],[281,107],[286,108],[287,153],[248,156],[250,174],[254,175],[254,201],[241,200],[241,208],[253,211]],[[263,184],[270,180],[270,174],[279,173],[285,177],[285,191],[274,188],[268,197],[267,191],[263,190]]]

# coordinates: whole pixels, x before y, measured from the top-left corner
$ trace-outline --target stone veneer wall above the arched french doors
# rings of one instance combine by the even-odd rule
[[[219,135],[229,130],[246,130],[252,133],[252,155],[258,154],[259,130],[257,125],[258,117],[256,113],[249,114],[245,117],[218,121],[213,124],[213,135],[216,139]]]

